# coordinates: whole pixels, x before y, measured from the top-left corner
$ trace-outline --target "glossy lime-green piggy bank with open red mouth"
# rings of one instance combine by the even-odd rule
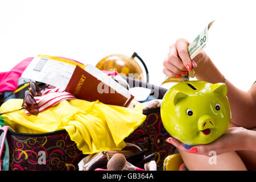
[[[172,86],[164,94],[160,110],[164,128],[185,148],[213,142],[231,122],[227,92],[225,84],[205,81]]]

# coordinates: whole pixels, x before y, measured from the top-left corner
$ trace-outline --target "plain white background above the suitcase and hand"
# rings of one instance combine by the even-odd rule
[[[191,42],[207,24],[205,52],[234,85],[256,77],[254,1],[0,1],[0,72],[39,54],[96,65],[137,52],[150,82],[164,80],[163,60],[176,39]]]

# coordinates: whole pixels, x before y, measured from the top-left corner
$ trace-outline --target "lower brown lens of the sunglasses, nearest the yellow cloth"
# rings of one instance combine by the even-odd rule
[[[38,104],[36,104],[35,98],[31,95],[30,92],[27,92],[24,96],[23,107],[30,112],[30,114],[38,114]]]

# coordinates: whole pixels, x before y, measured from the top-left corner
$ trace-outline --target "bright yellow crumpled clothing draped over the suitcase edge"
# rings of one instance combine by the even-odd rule
[[[10,99],[2,104],[0,113],[19,109],[22,102],[21,99]],[[65,129],[83,154],[121,150],[126,146],[123,139],[146,119],[141,104],[129,109],[79,99],[61,101],[38,115],[26,115],[24,110],[20,110],[1,117],[5,125],[20,133]]]

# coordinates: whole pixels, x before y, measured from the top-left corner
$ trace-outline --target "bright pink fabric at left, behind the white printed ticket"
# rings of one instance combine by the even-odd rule
[[[57,56],[59,57],[59,56]],[[65,57],[60,57],[64,59],[68,59]],[[20,61],[13,69],[9,72],[0,72],[0,93],[5,91],[14,91],[18,87],[18,80],[24,70],[27,68],[28,64],[34,59],[34,57],[28,57],[23,61]],[[80,63],[79,61],[68,59]],[[82,63],[80,63],[82,64]]]

